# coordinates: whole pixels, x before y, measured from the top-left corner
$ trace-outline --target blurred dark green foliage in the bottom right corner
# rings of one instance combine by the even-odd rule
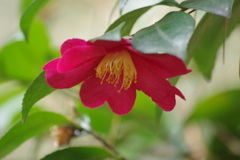
[[[231,141],[239,141],[240,90],[230,90],[214,95],[198,104],[187,119],[192,121],[208,120],[215,129],[209,142],[209,150],[219,160],[237,160],[239,156],[232,152]],[[238,151],[237,151],[238,152]]]

